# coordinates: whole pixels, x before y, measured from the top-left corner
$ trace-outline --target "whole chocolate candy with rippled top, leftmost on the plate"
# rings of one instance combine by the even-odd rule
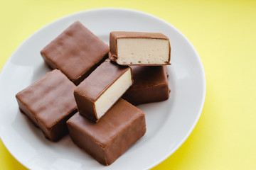
[[[57,141],[68,134],[66,121],[77,112],[74,88],[72,81],[55,69],[16,94],[16,99],[21,112],[46,138]]]

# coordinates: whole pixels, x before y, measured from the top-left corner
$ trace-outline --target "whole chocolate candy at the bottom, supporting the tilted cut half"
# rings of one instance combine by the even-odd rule
[[[146,132],[145,114],[122,98],[98,123],[79,113],[68,120],[70,137],[103,165],[110,165]]]

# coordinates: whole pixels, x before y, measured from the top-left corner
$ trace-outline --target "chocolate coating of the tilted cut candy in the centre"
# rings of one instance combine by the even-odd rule
[[[106,60],[75,88],[74,96],[78,111],[86,118],[97,122],[95,101],[99,98],[129,67],[119,66]]]

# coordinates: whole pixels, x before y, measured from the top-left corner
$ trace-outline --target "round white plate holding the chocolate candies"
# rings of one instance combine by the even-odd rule
[[[146,114],[146,134],[110,166],[97,163],[69,136],[56,143],[46,140],[18,111],[15,94],[50,71],[39,52],[74,21],[81,21],[106,43],[113,30],[160,32],[171,41],[170,98],[139,106]],[[11,55],[0,80],[1,140],[28,169],[149,169],[173,154],[191,134],[206,95],[203,65],[191,42],[155,16],[119,8],[82,11],[41,28]]]

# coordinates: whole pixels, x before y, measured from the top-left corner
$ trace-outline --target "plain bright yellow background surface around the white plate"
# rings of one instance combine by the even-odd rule
[[[39,28],[102,7],[163,18],[191,40],[203,62],[201,118],[188,140],[154,169],[256,169],[256,1],[0,0],[0,69]],[[1,140],[0,169],[26,169]]]

